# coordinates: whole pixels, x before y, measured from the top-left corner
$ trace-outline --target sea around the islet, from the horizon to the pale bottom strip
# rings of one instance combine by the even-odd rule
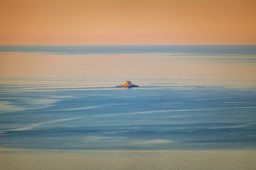
[[[256,148],[256,45],[0,46],[0,56],[0,147]],[[139,87],[115,88],[125,79]]]

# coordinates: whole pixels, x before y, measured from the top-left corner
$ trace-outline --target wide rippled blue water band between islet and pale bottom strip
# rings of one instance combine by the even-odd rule
[[[152,79],[123,90],[60,82],[1,85],[1,146],[255,148],[255,87]]]

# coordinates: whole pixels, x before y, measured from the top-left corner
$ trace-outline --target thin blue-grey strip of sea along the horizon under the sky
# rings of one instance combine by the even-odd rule
[[[44,52],[45,54],[149,54],[255,55],[255,45],[0,45],[0,52]]]

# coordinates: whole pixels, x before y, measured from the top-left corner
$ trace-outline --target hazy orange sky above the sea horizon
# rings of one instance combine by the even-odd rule
[[[0,45],[256,44],[255,0],[0,0]]]

